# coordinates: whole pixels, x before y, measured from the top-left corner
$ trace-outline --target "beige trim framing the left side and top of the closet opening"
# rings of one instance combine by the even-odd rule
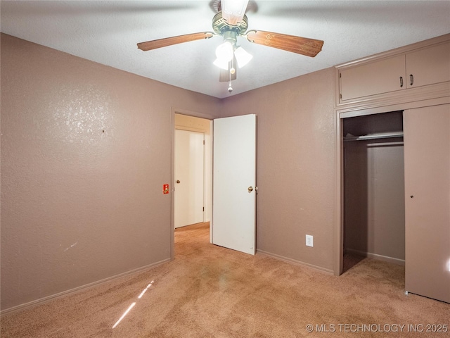
[[[413,102],[408,102],[406,98],[401,101],[399,98],[397,102],[391,102],[387,104],[385,101],[374,100],[370,103],[361,105],[361,103],[349,104],[342,107],[335,108],[335,163],[336,163],[336,176],[335,176],[335,229],[334,229],[334,241],[333,241],[333,270],[334,275],[339,276],[342,274],[342,268],[344,263],[344,151],[343,151],[343,137],[345,136],[342,128],[342,119],[352,118],[355,116],[373,115],[378,113],[388,113],[390,111],[404,111],[412,108],[423,108],[428,106],[438,106],[441,104],[450,103],[450,96],[439,97],[436,99],[429,99],[427,96],[417,95],[414,97]],[[420,101],[420,99],[422,99]]]

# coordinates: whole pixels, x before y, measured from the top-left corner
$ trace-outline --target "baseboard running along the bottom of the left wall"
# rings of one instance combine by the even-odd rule
[[[170,258],[167,258],[167,259],[164,259],[162,261],[143,266],[141,268],[137,268],[137,269],[134,269],[134,270],[127,271],[126,273],[120,273],[119,275],[115,275],[115,276],[112,276],[112,277],[105,278],[103,280],[98,280],[96,282],[92,282],[92,283],[89,283],[89,284],[82,285],[81,287],[75,287],[74,289],[69,289],[69,290],[66,290],[66,291],[63,291],[63,292],[59,292],[58,294],[52,294],[51,296],[46,296],[44,298],[36,299],[35,301],[30,301],[28,303],[23,303],[23,304],[20,304],[18,306],[13,306],[12,308],[6,308],[5,310],[1,310],[0,311],[0,316],[6,315],[8,313],[23,311],[26,308],[32,308],[34,306],[38,306],[38,305],[41,305],[43,303],[46,303],[47,301],[51,301],[53,299],[57,299],[57,298],[60,298],[60,297],[63,297],[63,296],[67,296],[68,294],[75,294],[75,293],[81,292],[81,291],[83,291],[85,289],[89,289],[90,287],[95,287],[95,286],[97,286],[99,284],[103,284],[105,282],[110,282],[112,280],[116,280],[117,278],[120,278],[120,277],[125,277],[127,275],[132,275],[134,273],[140,273],[143,270],[148,270],[150,268],[155,268],[156,266],[164,264],[164,263],[167,263],[169,261],[170,261]]]

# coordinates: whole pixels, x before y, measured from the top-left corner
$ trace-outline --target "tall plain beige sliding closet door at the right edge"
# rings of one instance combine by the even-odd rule
[[[404,111],[405,288],[450,303],[450,104]]]

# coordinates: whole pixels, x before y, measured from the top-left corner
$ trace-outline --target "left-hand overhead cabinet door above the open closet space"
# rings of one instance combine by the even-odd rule
[[[404,89],[405,74],[404,55],[342,69],[340,101]]]

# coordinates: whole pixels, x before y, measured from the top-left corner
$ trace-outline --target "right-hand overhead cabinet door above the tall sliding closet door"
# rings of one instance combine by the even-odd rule
[[[450,81],[450,42],[406,54],[406,87]]]

